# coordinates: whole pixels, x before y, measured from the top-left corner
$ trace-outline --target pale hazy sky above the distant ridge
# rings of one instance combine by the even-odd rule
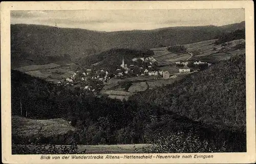
[[[152,30],[178,26],[223,26],[245,20],[244,9],[11,11],[11,24],[97,31]]]

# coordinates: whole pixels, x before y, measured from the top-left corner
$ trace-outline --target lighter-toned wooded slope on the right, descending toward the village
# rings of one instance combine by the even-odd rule
[[[246,130],[245,55],[133,97],[206,124]]]

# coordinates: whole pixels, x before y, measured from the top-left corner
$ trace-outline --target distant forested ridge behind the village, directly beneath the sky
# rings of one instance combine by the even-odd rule
[[[199,42],[244,26],[245,23],[241,22],[223,27],[100,32],[40,25],[11,25],[12,67],[51,63],[53,61],[49,56],[66,56],[67,60],[69,57],[74,60],[114,48],[144,51],[161,46]]]

